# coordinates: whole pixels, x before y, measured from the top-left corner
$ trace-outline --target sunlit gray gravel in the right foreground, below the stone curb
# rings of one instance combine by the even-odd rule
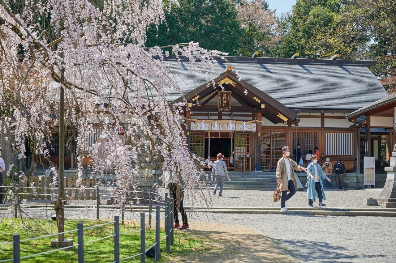
[[[201,213],[199,213],[201,214]],[[199,215],[198,215],[199,216]],[[305,262],[395,262],[394,218],[216,214],[223,224],[250,226]],[[199,216],[200,221],[211,221]]]

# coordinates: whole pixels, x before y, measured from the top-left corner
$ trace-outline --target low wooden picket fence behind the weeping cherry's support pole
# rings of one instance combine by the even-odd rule
[[[77,179],[78,178],[74,176],[65,178],[65,195],[68,198],[71,197],[72,200],[96,200],[96,186],[98,185],[97,178],[82,178],[82,182],[79,187],[76,187]],[[54,189],[51,189],[50,187],[52,183],[52,177],[45,178],[45,176],[30,176],[28,180],[23,182],[23,185],[19,186],[19,191],[23,199],[50,200],[51,193],[54,193]],[[82,185],[86,188],[81,189]],[[33,188],[35,188],[35,190]]]

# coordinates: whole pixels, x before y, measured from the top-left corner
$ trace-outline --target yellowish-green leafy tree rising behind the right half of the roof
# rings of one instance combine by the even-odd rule
[[[280,57],[300,53],[301,58],[324,58],[340,54],[356,59],[367,37],[362,28],[346,17],[347,0],[298,0],[291,15],[285,17],[287,32],[280,46]]]

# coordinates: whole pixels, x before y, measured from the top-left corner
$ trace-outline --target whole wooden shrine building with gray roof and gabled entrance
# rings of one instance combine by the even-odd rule
[[[316,147],[320,164],[327,157],[333,163],[341,159],[347,172],[360,173],[364,156],[376,156],[376,162],[381,162],[381,135],[389,136],[393,127],[369,130],[373,137],[369,137],[367,153],[367,132],[355,125],[357,119],[346,119],[387,96],[369,69],[376,61],[336,56],[225,57],[217,61],[213,87],[204,70],[188,70],[187,59],[166,58],[183,92],[183,96],[169,92],[168,101],[187,100],[185,134],[195,155],[214,161],[217,153],[223,153],[231,171],[274,171],[282,147],[289,146],[293,158],[298,143],[305,165],[306,154]]]

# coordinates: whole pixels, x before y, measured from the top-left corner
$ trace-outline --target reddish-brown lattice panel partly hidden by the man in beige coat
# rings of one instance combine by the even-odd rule
[[[276,170],[276,164],[282,156],[282,147],[286,145],[286,131],[261,132],[261,165],[263,170]]]

